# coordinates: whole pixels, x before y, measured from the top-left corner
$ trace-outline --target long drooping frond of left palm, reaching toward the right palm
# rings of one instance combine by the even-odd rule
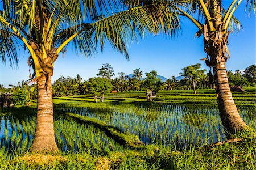
[[[168,3],[168,5],[170,5]],[[180,29],[179,19],[174,9],[163,3],[147,3],[147,5],[133,6],[117,14],[102,18],[92,23],[95,28],[94,42],[100,42],[103,49],[108,40],[114,49],[127,53],[125,44],[137,41],[138,36],[144,37],[148,33],[164,33],[175,36]],[[114,23],[114,24],[113,24]]]

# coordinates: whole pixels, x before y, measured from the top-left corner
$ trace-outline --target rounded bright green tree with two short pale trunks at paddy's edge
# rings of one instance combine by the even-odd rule
[[[95,103],[97,103],[97,96],[101,96],[101,102],[104,102],[104,94],[112,89],[110,80],[105,78],[90,78],[87,83],[89,94],[94,97]]]

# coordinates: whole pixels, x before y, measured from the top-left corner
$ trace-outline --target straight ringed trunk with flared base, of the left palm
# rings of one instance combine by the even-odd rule
[[[47,86],[46,86],[47,82]],[[36,116],[36,130],[31,151],[57,152],[53,128],[53,104],[51,76],[40,76],[38,84],[38,113]]]

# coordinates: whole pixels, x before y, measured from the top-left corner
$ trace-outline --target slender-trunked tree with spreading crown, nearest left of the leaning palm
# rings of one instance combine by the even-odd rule
[[[184,67],[182,69],[183,73],[180,73],[182,76],[187,78],[188,80],[192,80],[194,94],[196,94],[196,83],[200,80],[200,78],[204,75],[204,70],[200,70],[201,65],[197,63],[196,65],[191,65]]]

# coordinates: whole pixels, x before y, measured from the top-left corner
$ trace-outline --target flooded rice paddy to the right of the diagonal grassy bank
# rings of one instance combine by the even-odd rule
[[[146,144],[171,145],[183,150],[224,141],[225,131],[218,108],[191,104],[94,104],[60,105],[56,109],[105,121],[124,132],[135,134]],[[100,106],[100,109],[97,107]],[[243,120],[256,129],[255,108],[240,109]]]

